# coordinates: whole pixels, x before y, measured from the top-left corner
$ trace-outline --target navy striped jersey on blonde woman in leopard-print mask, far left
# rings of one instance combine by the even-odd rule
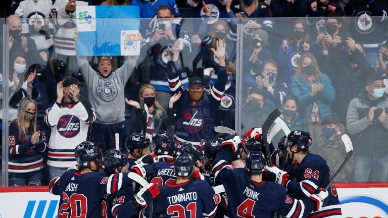
[[[31,133],[26,129],[24,140],[19,139],[19,127],[16,120],[9,124],[8,171],[15,173],[13,177],[29,177],[43,169],[43,159],[41,153],[47,148],[45,131],[36,125],[36,131],[40,132],[39,143],[33,145],[30,141]]]

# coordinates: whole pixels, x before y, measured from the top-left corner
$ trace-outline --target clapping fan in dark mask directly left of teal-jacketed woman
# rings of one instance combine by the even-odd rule
[[[275,108],[280,108],[284,97],[288,94],[288,87],[277,78],[277,64],[274,60],[267,60],[263,64],[262,74],[256,77],[257,88],[265,93],[263,112],[270,114]]]

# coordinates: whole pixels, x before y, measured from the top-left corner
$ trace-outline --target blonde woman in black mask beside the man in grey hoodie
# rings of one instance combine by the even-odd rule
[[[174,98],[175,96],[172,96],[171,98]],[[131,119],[132,119],[131,133],[135,133],[135,132],[138,133],[143,130],[141,121],[136,117],[135,110],[144,110],[144,104],[145,104],[147,105],[148,114],[150,115],[150,117],[148,117],[148,122],[147,122],[146,136],[148,138],[152,138],[152,134],[154,134],[154,132],[166,129],[167,111],[165,110],[165,108],[163,108],[160,105],[157,92],[154,86],[152,86],[151,84],[144,84],[140,87],[139,99],[140,101],[137,102],[137,101],[128,100],[127,98],[125,98],[125,102],[128,105],[135,107],[131,114]],[[168,112],[173,112],[173,110]],[[174,114],[170,116],[174,116]]]

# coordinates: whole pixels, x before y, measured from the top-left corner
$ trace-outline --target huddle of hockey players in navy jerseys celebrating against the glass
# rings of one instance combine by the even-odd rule
[[[127,138],[129,156],[92,142],[75,148],[77,166],[54,178],[58,217],[341,217],[330,169],[309,153],[308,132],[284,136],[268,166],[261,129],[242,138],[175,144],[166,131]],[[243,166],[241,166],[243,163]],[[149,183],[138,184],[141,176]]]

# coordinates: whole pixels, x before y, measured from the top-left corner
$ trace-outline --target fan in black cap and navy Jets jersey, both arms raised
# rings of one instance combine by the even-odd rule
[[[215,113],[220,105],[227,78],[225,68],[226,44],[222,40],[218,40],[216,47],[217,49],[212,48],[212,51],[219,61],[219,67],[215,68],[218,78],[209,92],[205,92],[201,77],[191,77],[188,90],[182,88],[177,72],[172,72],[168,77],[170,89],[176,96],[170,99],[168,110],[173,110],[172,107],[175,104],[177,121],[175,122],[174,140],[179,143],[186,141],[193,145],[199,145],[201,139],[206,141],[214,137]],[[179,52],[174,51],[174,56],[179,56]],[[171,69],[174,68],[171,66]],[[172,124],[174,124],[173,117],[169,120],[169,125]]]

